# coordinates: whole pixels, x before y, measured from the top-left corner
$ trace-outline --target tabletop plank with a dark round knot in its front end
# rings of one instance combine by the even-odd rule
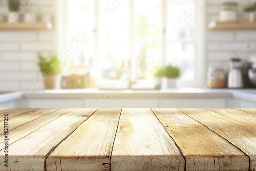
[[[109,170],[121,109],[99,109],[47,157],[47,170]]]

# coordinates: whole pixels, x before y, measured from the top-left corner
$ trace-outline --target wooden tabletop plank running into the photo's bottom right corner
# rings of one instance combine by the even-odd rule
[[[256,124],[247,125],[207,109],[181,110],[241,149],[250,157],[250,170],[256,170]]]

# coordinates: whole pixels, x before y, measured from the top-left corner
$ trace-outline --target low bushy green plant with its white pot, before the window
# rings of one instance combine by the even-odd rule
[[[158,71],[155,74],[155,77],[165,77],[167,78],[167,87],[168,88],[175,88],[177,78],[179,78],[181,75],[180,68],[177,66],[173,66],[172,64],[162,67],[158,69]]]

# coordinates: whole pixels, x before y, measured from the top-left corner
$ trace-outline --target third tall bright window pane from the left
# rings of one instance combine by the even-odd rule
[[[135,56],[133,65],[146,61],[138,77],[152,77],[153,66],[161,63],[161,1],[140,0],[135,5]],[[139,66],[140,67],[140,66]]]

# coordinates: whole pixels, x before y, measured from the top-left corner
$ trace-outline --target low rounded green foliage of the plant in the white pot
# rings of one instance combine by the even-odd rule
[[[166,78],[179,78],[181,75],[180,68],[173,65],[168,65],[157,70],[155,77],[166,77]]]

